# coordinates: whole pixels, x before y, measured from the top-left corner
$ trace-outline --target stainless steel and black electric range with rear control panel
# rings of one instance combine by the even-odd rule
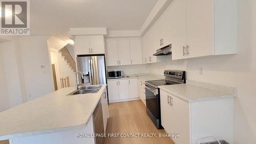
[[[164,70],[164,80],[146,81],[146,112],[158,129],[161,126],[160,89],[161,85],[186,83],[185,71]]]

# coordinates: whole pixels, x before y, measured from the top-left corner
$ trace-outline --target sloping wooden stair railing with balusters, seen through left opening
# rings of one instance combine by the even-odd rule
[[[76,62],[70,55],[68,49],[66,46],[64,46],[61,50],[59,50],[59,53],[61,54],[62,58],[64,58],[65,61],[67,61],[67,64],[70,66],[70,68],[76,72]]]

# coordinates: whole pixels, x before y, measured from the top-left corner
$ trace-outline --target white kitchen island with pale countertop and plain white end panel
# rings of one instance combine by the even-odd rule
[[[12,139],[13,144],[94,143],[94,137],[77,138],[77,134],[94,133],[92,114],[103,94],[105,97],[106,85],[97,93],[67,96],[74,90],[62,88],[1,112],[0,140]]]

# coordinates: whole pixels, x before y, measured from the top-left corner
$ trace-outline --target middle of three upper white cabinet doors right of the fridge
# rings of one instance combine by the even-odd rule
[[[129,40],[118,40],[118,55],[120,65],[131,64]]]

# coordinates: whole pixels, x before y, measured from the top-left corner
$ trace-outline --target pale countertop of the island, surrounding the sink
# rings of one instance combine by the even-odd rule
[[[0,112],[0,140],[81,128],[87,125],[106,85],[97,93],[67,96],[62,88]]]

